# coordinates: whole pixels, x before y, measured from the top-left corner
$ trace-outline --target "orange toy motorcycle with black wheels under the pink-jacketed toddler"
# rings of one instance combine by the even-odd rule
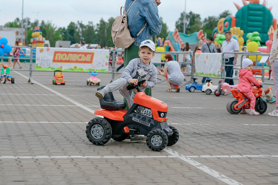
[[[235,97],[235,100],[228,101],[226,105],[226,109],[231,114],[238,114],[240,113],[241,109],[250,109],[250,99],[248,99],[244,94],[239,92],[237,89],[232,89],[232,94]],[[255,110],[260,114],[265,113],[267,110],[267,103],[263,101],[262,92],[263,88],[261,87],[254,87],[253,94],[255,95],[256,102],[255,102]]]

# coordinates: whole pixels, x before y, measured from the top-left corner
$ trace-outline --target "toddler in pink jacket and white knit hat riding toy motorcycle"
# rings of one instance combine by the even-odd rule
[[[247,98],[250,99],[250,115],[259,115],[257,111],[255,111],[255,102],[256,98],[255,95],[252,93],[253,86],[252,84],[260,87],[262,84],[259,83],[255,77],[253,76],[253,73],[251,72],[253,66],[252,60],[246,58],[242,60],[242,68],[238,72],[239,77],[239,83],[238,83],[238,90],[242,92]],[[242,114],[247,113],[245,109],[242,108],[241,112]]]

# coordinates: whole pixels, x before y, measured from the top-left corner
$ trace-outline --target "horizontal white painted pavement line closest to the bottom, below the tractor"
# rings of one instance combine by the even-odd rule
[[[165,151],[168,150],[164,149]],[[171,150],[171,149],[170,149]],[[174,151],[174,150],[171,150]],[[166,151],[168,152],[168,151]],[[175,152],[175,151],[174,151]],[[175,152],[174,155],[154,155],[154,156],[82,156],[82,155],[63,155],[63,156],[0,156],[0,159],[7,158],[267,158],[267,157],[278,157],[278,155],[181,155]],[[192,160],[192,159],[191,159]],[[193,160],[194,161],[194,160]],[[193,165],[194,166],[194,165]]]

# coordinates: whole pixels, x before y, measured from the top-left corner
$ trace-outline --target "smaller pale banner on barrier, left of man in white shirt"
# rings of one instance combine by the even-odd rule
[[[221,53],[195,53],[195,75],[220,77]]]

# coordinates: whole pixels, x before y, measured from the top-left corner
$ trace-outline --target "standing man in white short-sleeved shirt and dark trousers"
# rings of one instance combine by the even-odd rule
[[[230,31],[225,31],[226,40],[223,42],[221,47],[221,53],[226,52],[238,52],[239,44],[236,39],[232,38],[232,33]],[[226,65],[235,65],[237,64],[238,54],[227,53],[224,54],[224,61]],[[233,66],[225,66],[226,77],[233,77]],[[225,79],[225,82],[234,85],[233,79]]]

